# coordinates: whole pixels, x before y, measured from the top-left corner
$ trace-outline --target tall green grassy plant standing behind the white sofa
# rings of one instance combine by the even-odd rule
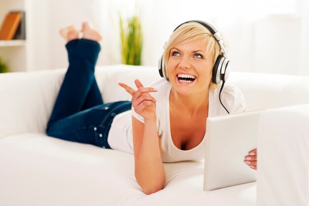
[[[123,19],[119,14],[122,64],[141,65],[142,32],[139,16]]]

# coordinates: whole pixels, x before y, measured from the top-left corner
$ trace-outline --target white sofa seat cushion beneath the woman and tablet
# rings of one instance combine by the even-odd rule
[[[256,183],[204,192],[203,161],[164,164],[165,188],[145,195],[132,154],[38,133],[1,139],[0,163],[1,205],[256,205]]]

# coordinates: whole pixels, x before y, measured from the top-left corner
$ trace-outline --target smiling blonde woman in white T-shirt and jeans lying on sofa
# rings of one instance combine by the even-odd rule
[[[101,36],[87,23],[83,23],[80,40],[74,27],[60,33],[68,41],[70,66],[46,133],[133,152],[135,177],[146,194],[163,188],[163,162],[203,159],[207,117],[226,114],[226,110],[244,111],[244,99],[236,87],[219,89],[211,81],[212,67],[222,52],[201,23],[182,24],[165,45],[164,75],[168,81],[162,79],[144,87],[135,80],[137,90],[119,83],[132,95],[131,102],[108,104],[103,104],[94,78]],[[254,169],[256,155],[256,150],[250,151],[246,157],[250,161],[245,161]]]

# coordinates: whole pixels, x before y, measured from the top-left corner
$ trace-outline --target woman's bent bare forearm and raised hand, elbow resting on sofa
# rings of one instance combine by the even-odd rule
[[[152,194],[161,190],[165,183],[160,139],[156,129],[156,100],[149,94],[156,90],[144,87],[138,80],[135,80],[135,84],[138,88],[136,91],[119,83],[132,95],[134,111],[144,118],[145,124],[132,117],[135,177],[143,191]]]

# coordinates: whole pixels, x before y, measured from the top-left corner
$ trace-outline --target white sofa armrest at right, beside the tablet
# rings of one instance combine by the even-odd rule
[[[261,116],[257,206],[309,206],[309,104]]]

